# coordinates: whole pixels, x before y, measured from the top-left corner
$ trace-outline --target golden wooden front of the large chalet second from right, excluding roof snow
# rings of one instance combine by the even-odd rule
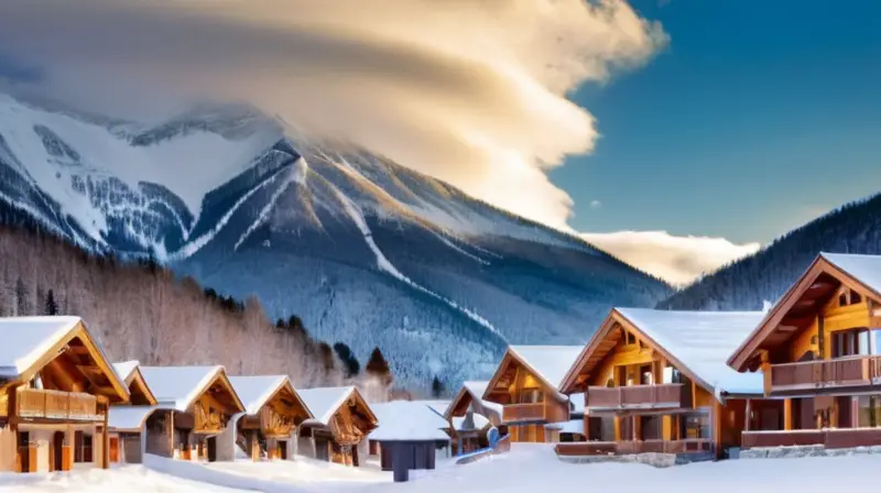
[[[724,357],[718,364],[724,368]],[[563,391],[584,393],[588,440],[561,445],[557,450],[564,454],[664,452],[718,458],[722,450],[740,446],[748,426],[746,397],[761,396],[757,390],[754,395],[720,402],[700,375],[617,309],[585,347]]]

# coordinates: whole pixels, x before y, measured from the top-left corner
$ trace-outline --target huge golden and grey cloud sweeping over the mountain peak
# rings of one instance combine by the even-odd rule
[[[2,3],[0,47],[56,96],[248,100],[562,229],[572,198],[545,172],[597,139],[566,95],[667,42],[621,0]]]

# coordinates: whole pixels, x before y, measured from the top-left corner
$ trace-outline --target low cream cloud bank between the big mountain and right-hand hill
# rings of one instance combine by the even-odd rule
[[[759,243],[732,243],[725,238],[674,237],[666,231],[581,233],[589,243],[674,285],[759,251]]]

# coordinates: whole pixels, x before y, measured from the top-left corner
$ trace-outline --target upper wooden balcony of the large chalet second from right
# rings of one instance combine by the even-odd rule
[[[587,387],[588,409],[657,409],[692,407],[692,388],[681,383]]]

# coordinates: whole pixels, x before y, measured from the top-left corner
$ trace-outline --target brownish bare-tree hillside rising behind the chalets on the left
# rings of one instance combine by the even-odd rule
[[[0,226],[0,316],[81,316],[113,361],[287,373],[300,386],[347,376],[339,350],[313,340],[296,317],[270,322],[255,298],[216,296],[152,262],[85,253],[0,206],[3,223],[15,226]]]

